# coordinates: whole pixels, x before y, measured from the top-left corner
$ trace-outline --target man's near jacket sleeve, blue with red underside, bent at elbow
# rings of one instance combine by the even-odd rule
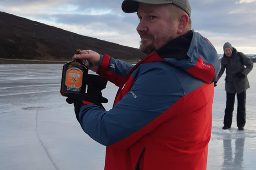
[[[181,109],[183,100],[180,99],[193,91],[191,89],[204,84],[185,71],[180,72],[161,62],[141,64],[132,77],[134,83],[130,91],[113,109],[105,111],[95,105],[81,107],[79,117],[82,129],[102,145],[119,149],[130,147],[143,135],[179,114],[179,109],[170,112],[169,108],[175,104]],[[184,80],[186,82],[181,82]],[[184,90],[182,83],[190,89]],[[167,110],[168,114],[162,116]]]

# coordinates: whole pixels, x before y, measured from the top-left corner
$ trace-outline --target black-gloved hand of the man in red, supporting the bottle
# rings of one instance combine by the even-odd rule
[[[66,99],[68,104],[73,104],[75,106],[75,113],[77,121],[79,121],[79,112],[82,106],[83,101],[88,101],[95,105],[100,106],[102,109],[105,109],[102,103],[108,103],[108,99],[102,97],[101,90],[106,88],[107,80],[100,77],[99,75],[87,74],[86,84],[88,85],[86,94],[73,94],[68,96]],[[86,103],[86,102],[85,102]]]

